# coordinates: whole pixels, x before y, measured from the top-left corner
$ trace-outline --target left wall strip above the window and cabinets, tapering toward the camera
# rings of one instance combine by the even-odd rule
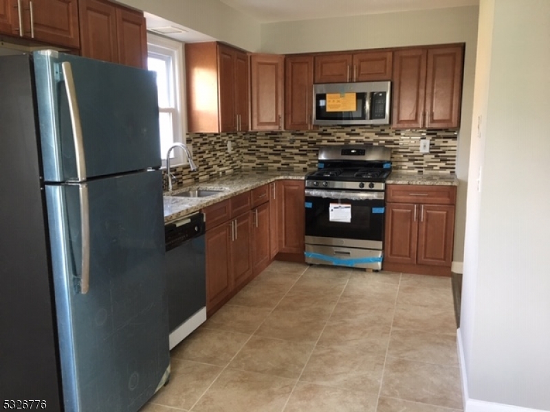
[[[260,49],[260,23],[219,0],[117,1],[249,52]]]

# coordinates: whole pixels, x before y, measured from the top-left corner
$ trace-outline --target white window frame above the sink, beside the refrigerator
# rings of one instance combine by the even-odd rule
[[[186,143],[186,107],[185,107],[185,61],[184,43],[170,38],[147,33],[147,54],[148,56],[168,56],[173,62],[173,76],[170,78],[170,86],[174,93],[173,107],[159,107],[159,113],[172,113],[172,130],[174,143]],[[159,142],[160,144],[160,142]],[[192,150],[189,148],[189,150]],[[161,153],[162,168],[166,168],[166,153]],[[187,158],[182,150],[170,152],[170,166],[185,165]]]

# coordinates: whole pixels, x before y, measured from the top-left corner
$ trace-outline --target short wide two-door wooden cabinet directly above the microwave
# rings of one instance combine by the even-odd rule
[[[316,83],[391,80],[391,51],[364,51],[315,56]]]

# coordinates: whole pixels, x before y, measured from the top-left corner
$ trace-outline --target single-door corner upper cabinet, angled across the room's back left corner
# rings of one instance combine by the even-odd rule
[[[284,56],[250,56],[250,130],[283,128],[284,76]]]

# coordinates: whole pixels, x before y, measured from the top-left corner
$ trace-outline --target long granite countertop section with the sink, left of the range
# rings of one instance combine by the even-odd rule
[[[176,197],[164,193],[164,223],[192,214],[203,207],[224,201],[236,194],[247,192],[255,187],[272,183],[277,180],[304,180],[307,172],[237,172],[174,190],[173,194],[188,190],[221,190],[219,194],[203,198]]]

